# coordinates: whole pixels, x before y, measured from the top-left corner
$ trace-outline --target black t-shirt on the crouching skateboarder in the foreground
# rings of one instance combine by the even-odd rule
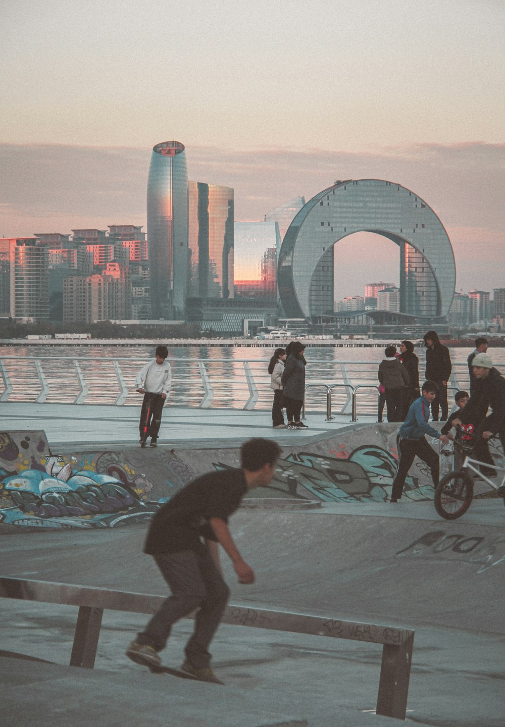
[[[243,470],[210,472],[196,478],[154,515],[144,553],[202,553],[201,538],[217,540],[210,518],[228,522],[247,491]]]

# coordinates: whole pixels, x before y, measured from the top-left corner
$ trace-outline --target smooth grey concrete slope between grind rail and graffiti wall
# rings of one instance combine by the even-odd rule
[[[251,619],[255,605],[278,606],[407,628],[431,624],[504,634],[505,537],[499,527],[241,510],[231,518],[231,531],[257,579],[238,585],[223,555],[226,580],[231,600],[250,606]],[[142,553],[145,534],[141,526],[74,531],[71,538],[60,531],[13,534],[2,543],[2,571],[165,594],[153,559]]]

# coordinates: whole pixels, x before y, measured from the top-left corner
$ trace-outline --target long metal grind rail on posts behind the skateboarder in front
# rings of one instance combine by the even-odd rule
[[[162,595],[8,577],[0,577],[0,598],[78,606],[70,665],[87,669],[95,665],[105,609],[153,614],[166,599]],[[377,714],[405,720],[414,646],[413,630],[343,621],[336,616],[312,616],[232,605],[226,607],[223,623],[382,644]],[[48,640],[50,643],[50,636]]]

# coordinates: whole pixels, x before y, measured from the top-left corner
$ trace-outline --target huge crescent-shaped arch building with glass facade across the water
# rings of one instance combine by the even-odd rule
[[[279,295],[287,317],[310,319],[323,312],[314,310],[313,303],[325,276],[320,272],[325,270],[321,261],[328,260],[329,251],[339,241],[357,232],[381,235],[400,247],[400,312],[447,316],[456,286],[456,265],[442,222],[424,199],[402,185],[365,179],[335,182],[322,190],[287,229],[277,266]],[[333,277],[333,265],[330,268]],[[333,279],[330,295],[333,298]],[[431,301],[429,305],[427,301]]]

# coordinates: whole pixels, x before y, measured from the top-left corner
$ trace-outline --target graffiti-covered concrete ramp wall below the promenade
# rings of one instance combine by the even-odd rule
[[[57,454],[49,453],[44,433],[31,435],[30,441],[27,433],[0,435],[4,457],[6,452],[13,457],[10,466],[2,460],[4,529],[101,529],[142,523],[196,476],[240,464],[237,446]],[[397,467],[396,435],[397,425],[354,425],[305,440],[293,433],[293,444],[283,447],[269,487],[248,492],[247,499],[284,499],[286,507],[314,501],[385,502]],[[437,441],[434,447],[438,449]],[[449,461],[445,465],[452,468]],[[415,459],[404,499],[428,501],[433,494],[428,468]],[[481,486],[478,494],[493,493]]]

